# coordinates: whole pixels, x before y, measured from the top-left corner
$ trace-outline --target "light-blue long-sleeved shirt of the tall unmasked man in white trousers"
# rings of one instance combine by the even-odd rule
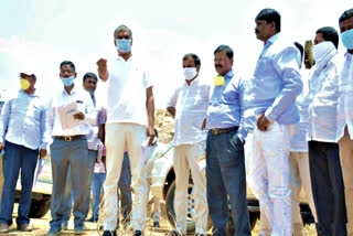
[[[299,121],[296,97],[302,89],[300,52],[279,34],[270,37],[257,61],[250,88],[246,95],[247,112],[265,112],[269,121],[291,125]]]

